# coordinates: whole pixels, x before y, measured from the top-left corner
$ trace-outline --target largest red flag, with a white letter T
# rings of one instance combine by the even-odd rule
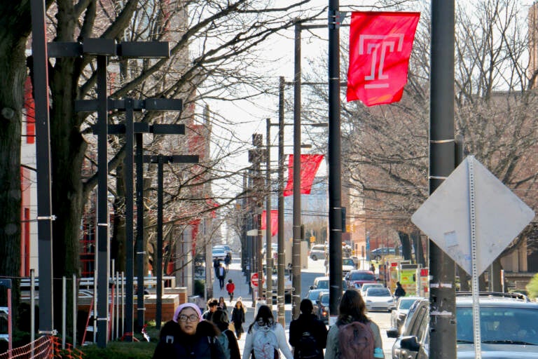
[[[347,101],[398,102],[420,13],[354,12],[350,27]]]

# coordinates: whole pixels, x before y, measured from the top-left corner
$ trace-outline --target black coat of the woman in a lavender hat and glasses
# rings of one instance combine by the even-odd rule
[[[179,324],[168,321],[160,330],[153,359],[226,359],[213,323],[202,320],[194,335],[181,331]]]

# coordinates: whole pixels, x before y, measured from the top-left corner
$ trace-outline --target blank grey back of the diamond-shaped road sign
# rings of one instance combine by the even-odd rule
[[[474,203],[470,200],[469,162]],[[468,156],[411,216],[418,228],[472,273],[471,211],[474,205],[476,270],[481,274],[534,218],[534,212],[474,156]]]

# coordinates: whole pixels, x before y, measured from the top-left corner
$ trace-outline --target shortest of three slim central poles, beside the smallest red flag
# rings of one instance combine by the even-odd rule
[[[265,272],[267,273],[267,279],[265,280],[265,297],[267,305],[272,308],[273,305],[273,243],[271,236],[271,119],[265,118],[266,128],[265,131]]]

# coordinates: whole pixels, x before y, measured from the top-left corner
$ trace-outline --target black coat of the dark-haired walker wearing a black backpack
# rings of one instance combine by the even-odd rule
[[[289,344],[294,347],[294,358],[298,359],[297,346],[304,332],[310,332],[319,348],[319,359],[323,359],[323,349],[327,342],[327,328],[314,314],[301,314],[289,323]]]

